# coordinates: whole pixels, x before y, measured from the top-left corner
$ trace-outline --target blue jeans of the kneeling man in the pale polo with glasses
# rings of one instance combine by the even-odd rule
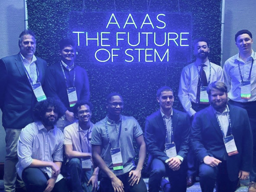
[[[67,162],[67,170],[70,175],[72,192],[91,192],[92,185],[87,186],[93,175],[91,170],[82,169],[82,161],[79,158],[72,158]]]

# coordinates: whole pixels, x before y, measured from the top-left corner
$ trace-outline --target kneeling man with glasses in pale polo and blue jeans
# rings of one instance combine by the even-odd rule
[[[74,192],[91,192],[98,188],[99,168],[92,168],[92,148],[90,144],[94,124],[90,122],[92,105],[87,101],[79,101],[74,106],[74,114],[78,119],[64,129],[64,148],[67,170],[71,178]]]

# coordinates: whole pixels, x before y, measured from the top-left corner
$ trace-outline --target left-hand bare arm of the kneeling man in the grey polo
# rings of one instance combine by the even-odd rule
[[[125,192],[124,185],[119,178],[107,167],[106,163],[100,156],[101,146],[92,145],[93,162],[111,179],[114,191]]]

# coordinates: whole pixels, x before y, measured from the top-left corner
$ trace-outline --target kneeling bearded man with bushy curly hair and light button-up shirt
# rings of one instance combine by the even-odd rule
[[[52,98],[37,103],[34,115],[39,121],[21,130],[16,169],[28,192],[67,192],[60,174],[64,137],[55,127],[62,108],[62,103]]]

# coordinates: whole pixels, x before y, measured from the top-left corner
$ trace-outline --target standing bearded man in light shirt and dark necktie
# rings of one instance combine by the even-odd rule
[[[214,81],[224,82],[221,66],[208,60],[210,52],[206,38],[198,38],[194,41],[194,55],[197,60],[183,68],[180,75],[179,99],[187,114],[193,120],[194,114],[209,106],[207,86]],[[187,156],[187,186],[193,185],[197,173],[197,162],[190,150]]]

